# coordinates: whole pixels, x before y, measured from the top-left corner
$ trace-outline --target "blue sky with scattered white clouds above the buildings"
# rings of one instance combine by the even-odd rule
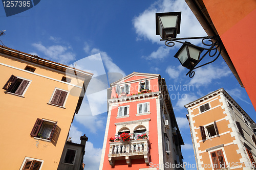
[[[83,58],[100,54],[102,60],[98,60],[98,65],[95,64],[94,68],[83,67],[96,76],[103,75],[104,71],[119,72],[123,76],[133,71],[160,74],[169,87],[185,142],[182,147],[183,161],[193,164],[195,156],[185,104],[223,87],[253,120],[256,117],[245,89],[239,85],[221,57],[196,70],[194,78],[185,76],[187,70],[173,57],[181,45],[166,47],[160,41],[160,36],[155,35],[155,13],[175,11],[182,11],[181,30],[177,37],[206,35],[184,0],[42,0],[35,7],[9,17],[6,17],[3,5],[0,5],[0,30],[6,30],[6,35],[0,39],[15,50],[67,65],[77,63],[80,67],[85,63]],[[190,88],[183,88],[188,86]],[[75,116],[70,137],[77,143],[81,135],[89,137],[84,163],[86,169],[94,170],[99,167],[107,115],[93,115],[90,108],[95,103],[89,104],[88,99],[84,100]],[[98,102],[103,105],[105,101]]]

